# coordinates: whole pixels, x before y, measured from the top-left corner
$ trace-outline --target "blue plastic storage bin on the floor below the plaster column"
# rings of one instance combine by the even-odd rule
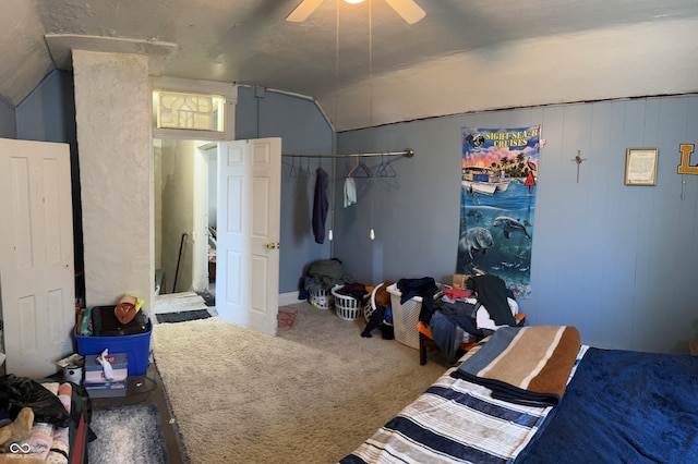
[[[149,318],[148,331],[135,335],[83,337],[77,334],[77,328],[74,330],[80,355],[101,354],[105,349],[109,349],[109,353],[125,353],[129,362],[129,377],[144,376],[148,370],[151,333],[153,333],[153,323]]]

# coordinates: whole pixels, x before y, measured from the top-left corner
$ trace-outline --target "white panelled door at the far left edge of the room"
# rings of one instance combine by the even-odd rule
[[[73,352],[70,150],[0,138],[0,285],[7,371],[46,377]]]

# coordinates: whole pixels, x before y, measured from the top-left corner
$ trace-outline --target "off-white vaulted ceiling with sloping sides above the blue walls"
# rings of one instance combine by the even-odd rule
[[[0,98],[69,68],[51,47],[65,39],[163,45],[154,74],[306,96],[338,131],[698,91],[696,0],[416,1],[409,25],[385,0],[324,0],[302,23],[285,20],[300,0],[3,0]]]

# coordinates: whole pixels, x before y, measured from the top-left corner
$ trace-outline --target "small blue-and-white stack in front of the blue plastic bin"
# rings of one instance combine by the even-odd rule
[[[125,353],[115,353],[105,356],[105,361],[111,366],[111,371],[97,358],[101,355],[85,356],[85,382],[89,398],[115,398],[127,395],[127,381],[129,379],[129,362]]]

